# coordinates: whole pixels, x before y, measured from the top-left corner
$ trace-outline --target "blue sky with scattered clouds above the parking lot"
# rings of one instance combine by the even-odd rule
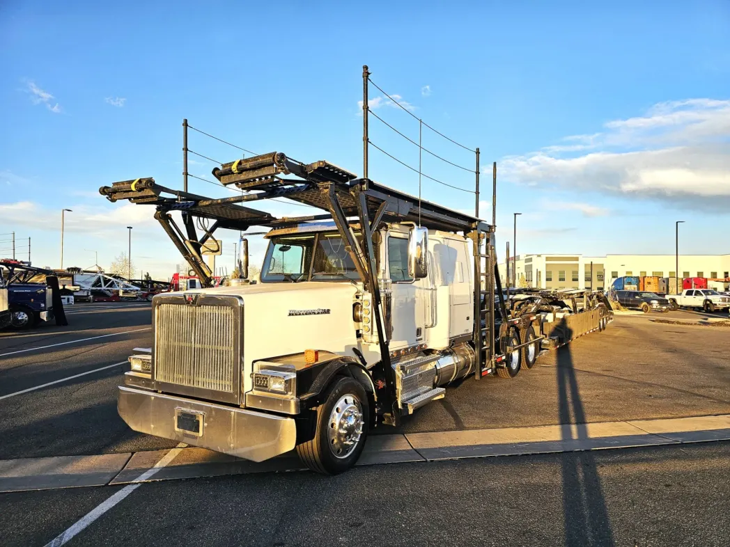
[[[180,186],[183,117],[255,152],[360,174],[363,64],[415,116],[480,147],[485,201],[498,162],[500,252],[512,212],[523,212],[519,252],[672,253],[675,220],[686,221],[683,252],[730,252],[727,1],[101,4],[0,7],[0,233],[31,236],[37,265],[58,267],[68,208],[64,265],[92,265],[94,250],[109,265],[131,224],[137,267],[172,274],[181,260],[153,209],[97,190],[137,176]],[[418,139],[418,122],[376,89],[370,97]],[[377,120],[371,138],[418,166],[418,149]],[[423,144],[472,166],[426,130]],[[189,146],[239,157],[196,133]],[[212,179],[213,164],[198,160],[190,172]],[[472,174],[428,155],[423,172],[473,186]],[[370,176],[418,193],[417,174],[377,150]],[[191,191],[229,194],[195,179]],[[472,194],[428,180],[422,191],[473,211]],[[491,217],[488,203],[483,212]],[[222,263],[232,263],[234,236],[223,238]]]

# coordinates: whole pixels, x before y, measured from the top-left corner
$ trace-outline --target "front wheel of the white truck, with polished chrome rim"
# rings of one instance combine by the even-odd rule
[[[352,468],[362,454],[370,402],[360,383],[347,376],[335,376],[321,401],[297,425],[296,453],[312,471],[337,475]],[[342,429],[335,427],[337,420]]]

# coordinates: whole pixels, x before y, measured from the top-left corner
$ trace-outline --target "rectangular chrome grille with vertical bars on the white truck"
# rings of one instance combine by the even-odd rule
[[[156,381],[234,392],[236,309],[161,303],[155,313]]]

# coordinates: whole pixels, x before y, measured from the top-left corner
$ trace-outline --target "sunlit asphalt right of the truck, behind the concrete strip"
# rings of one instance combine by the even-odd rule
[[[548,352],[514,379],[466,379],[447,388],[445,399],[424,406],[396,431],[725,414],[728,355],[726,328],[616,317],[605,332]]]

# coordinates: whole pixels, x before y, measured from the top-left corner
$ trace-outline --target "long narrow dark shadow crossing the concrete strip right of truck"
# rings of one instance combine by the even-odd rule
[[[572,338],[572,330],[565,319],[559,328],[565,340]],[[585,409],[569,345],[558,349],[556,373],[561,438],[563,441],[588,439]],[[593,452],[583,451],[578,452],[577,457],[561,458],[561,472],[566,547],[615,545]]]

